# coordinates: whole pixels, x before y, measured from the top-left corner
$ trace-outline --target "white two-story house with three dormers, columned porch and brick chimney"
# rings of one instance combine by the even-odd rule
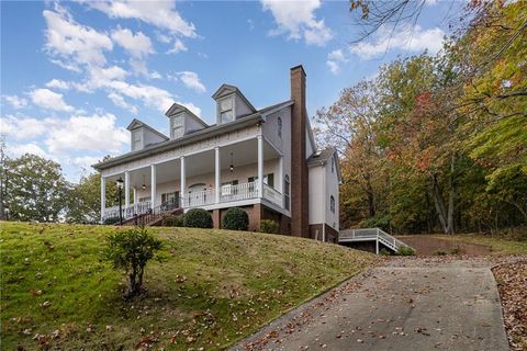
[[[337,241],[337,154],[316,147],[303,67],[290,75],[291,98],[260,110],[223,84],[212,95],[214,125],[177,103],[166,112],[170,136],[134,118],[131,151],[93,166],[102,178],[101,219],[119,216],[104,204],[106,183],[121,179],[125,219],[201,207],[221,227],[222,214],[236,206],[248,213],[250,230],[273,219],[281,234]]]

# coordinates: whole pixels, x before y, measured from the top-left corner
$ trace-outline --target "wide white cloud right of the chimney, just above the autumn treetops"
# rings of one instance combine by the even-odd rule
[[[361,42],[350,47],[350,52],[363,59],[378,57],[391,49],[408,50],[419,53],[427,49],[430,54],[439,52],[442,47],[445,32],[439,27],[423,30],[419,25],[415,27],[402,26],[397,32],[383,26],[372,42]]]

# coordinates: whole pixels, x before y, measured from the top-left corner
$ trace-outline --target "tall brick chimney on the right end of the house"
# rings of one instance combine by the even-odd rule
[[[305,155],[305,71],[302,65],[291,68],[291,235],[310,237],[309,171]]]

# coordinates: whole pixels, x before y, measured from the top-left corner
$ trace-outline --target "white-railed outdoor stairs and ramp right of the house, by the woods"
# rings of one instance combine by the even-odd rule
[[[375,253],[379,254],[380,246],[397,252],[401,247],[412,248],[397,238],[391,236],[380,228],[345,229],[338,235],[338,244],[374,241]]]

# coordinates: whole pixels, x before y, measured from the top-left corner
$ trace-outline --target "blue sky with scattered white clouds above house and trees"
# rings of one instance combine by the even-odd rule
[[[224,82],[264,107],[289,99],[289,68],[302,64],[314,115],[380,65],[437,52],[462,3],[451,4],[427,1],[412,33],[350,45],[347,1],[2,1],[0,132],[11,156],[54,159],[76,181],[128,150],[133,117],[168,134],[164,112],[178,102],[213,123]]]

